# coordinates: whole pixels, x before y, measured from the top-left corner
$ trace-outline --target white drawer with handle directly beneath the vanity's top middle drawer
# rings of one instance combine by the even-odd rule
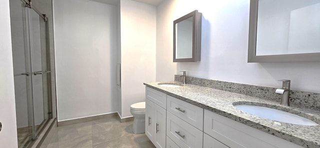
[[[203,132],[168,111],[166,135],[179,147],[202,147]]]

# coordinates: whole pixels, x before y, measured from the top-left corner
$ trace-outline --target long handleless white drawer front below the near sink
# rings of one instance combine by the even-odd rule
[[[203,131],[229,147],[301,147],[206,109]]]

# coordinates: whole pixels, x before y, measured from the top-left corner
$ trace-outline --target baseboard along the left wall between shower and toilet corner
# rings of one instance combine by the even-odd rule
[[[101,114],[101,115],[94,115],[94,116],[88,116],[88,117],[82,117],[82,118],[76,118],[76,119],[70,119],[70,120],[64,120],[64,121],[58,121],[58,126],[64,126],[64,125],[70,125],[70,124],[76,124],[76,123],[82,123],[87,121],[93,121],[98,120],[102,118],[109,118],[117,116],[117,112],[108,113],[108,114]]]

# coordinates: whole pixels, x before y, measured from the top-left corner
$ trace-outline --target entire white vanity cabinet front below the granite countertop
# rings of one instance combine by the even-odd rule
[[[145,87],[145,134],[156,147],[301,147]]]

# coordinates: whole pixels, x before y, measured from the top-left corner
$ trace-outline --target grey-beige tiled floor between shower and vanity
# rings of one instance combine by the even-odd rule
[[[58,126],[47,148],[155,147],[144,133],[132,133],[132,121],[116,118]],[[50,131],[51,132],[51,131]]]

